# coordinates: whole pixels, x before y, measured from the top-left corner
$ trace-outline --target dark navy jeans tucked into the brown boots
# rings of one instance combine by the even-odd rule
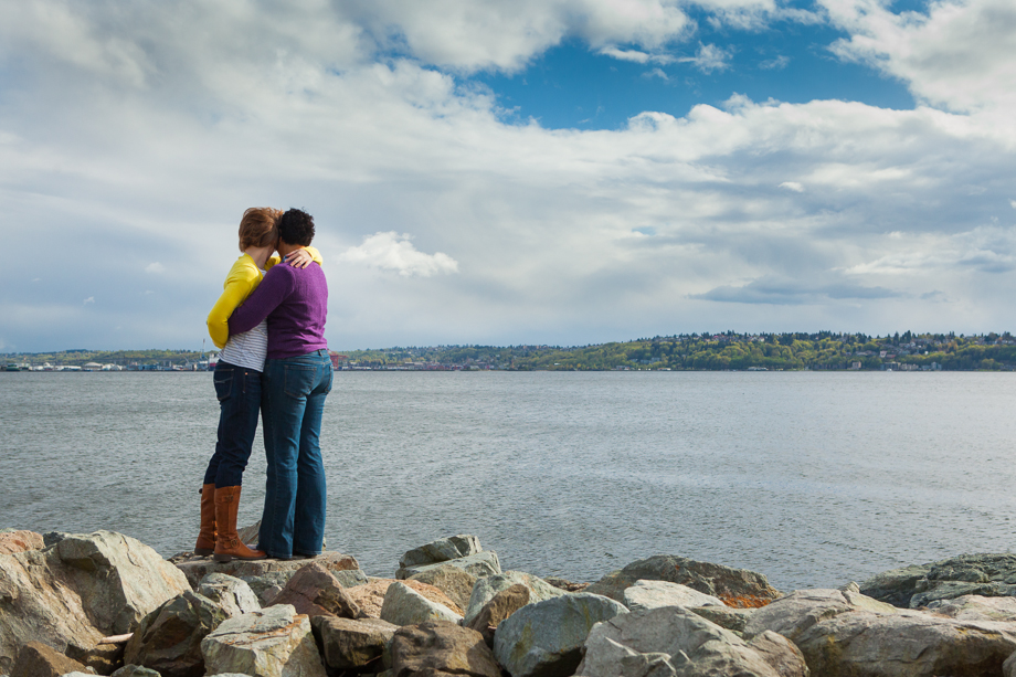
[[[257,431],[261,372],[220,360],[213,379],[219,398],[219,438],[204,472],[204,484],[235,487],[243,483]]]

